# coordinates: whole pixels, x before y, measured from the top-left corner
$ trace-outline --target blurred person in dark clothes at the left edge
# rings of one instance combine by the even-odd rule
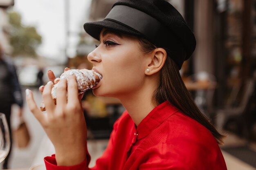
[[[18,76],[16,74],[16,67],[11,61],[11,58],[4,54],[4,51],[0,44],[0,112],[6,115],[10,131],[11,145],[12,134],[10,118],[12,104],[17,104],[19,106],[18,115],[19,117],[22,117],[23,100],[20,84],[18,82]],[[11,153],[11,148],[3,163],[4,169],[8,169],[8,161]]]

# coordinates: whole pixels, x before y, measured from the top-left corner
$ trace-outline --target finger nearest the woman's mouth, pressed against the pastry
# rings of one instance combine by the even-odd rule
[[[78,88],[75,75],[70,75],[68,77],[67,92],[67,102],[79,102]]]

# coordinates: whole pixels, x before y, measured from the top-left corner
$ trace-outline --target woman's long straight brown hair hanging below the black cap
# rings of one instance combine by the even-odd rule
[[[144,53],[150,53],[157,48],[157,46],[143,38],[139,39],[139,45]],[[165,50],[168,56],[181,55],[181,57],[183,57],[182,55],[185,55],[185,53],[177,54],[168,51],[168,49]],[[216,128],[198,109],[182,81],[177,64],[175,64],[171,57],[168,56],[160,71],[159,86],[153,94],[153,103],[155,106],[158,106],[159,104],[168,101],[170,104],[178,108],[184,115],[195,119],[205,126],[216,138],[218,144],[222,144],[222,138],[224,136],[216,130]]]

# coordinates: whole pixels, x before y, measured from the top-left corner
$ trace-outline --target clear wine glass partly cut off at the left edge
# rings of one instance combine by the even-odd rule
[[[0,113],[0,163],[10,151],[11,141],[7,120],[4,113]]]

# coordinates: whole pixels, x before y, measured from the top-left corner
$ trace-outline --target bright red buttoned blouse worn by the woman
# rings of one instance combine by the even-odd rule
[[[45,157],[47,170],[227,170],[211,132],[164,102],[135,127],[127,111],[115,122],[108,147],[87,168],[90,155],[76,166],[56,166]]]

